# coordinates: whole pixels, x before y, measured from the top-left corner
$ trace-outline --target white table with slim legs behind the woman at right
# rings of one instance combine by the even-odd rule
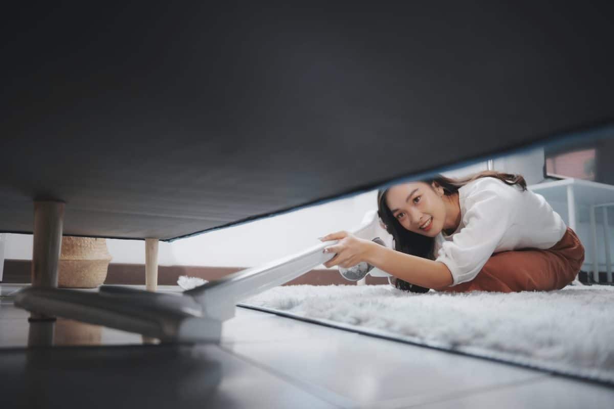
[[[593,262],[593,278],[599,282],[599,254],[597,242],[596,211],[602,209],[604,216],[605,262],[607,265],[607,281],[612,282],[612,258],[610,254],[610,237],[607,208],[614,207],[614,186],[605,183],[590,182],[575,178],[556,180],[554,182],[538,183],[529,186],[535,193],[541,194],[548,202],[567,202],[569,227],[577,230],[578,212],[585,205],[588,207],[591,223],[591,261]]]

